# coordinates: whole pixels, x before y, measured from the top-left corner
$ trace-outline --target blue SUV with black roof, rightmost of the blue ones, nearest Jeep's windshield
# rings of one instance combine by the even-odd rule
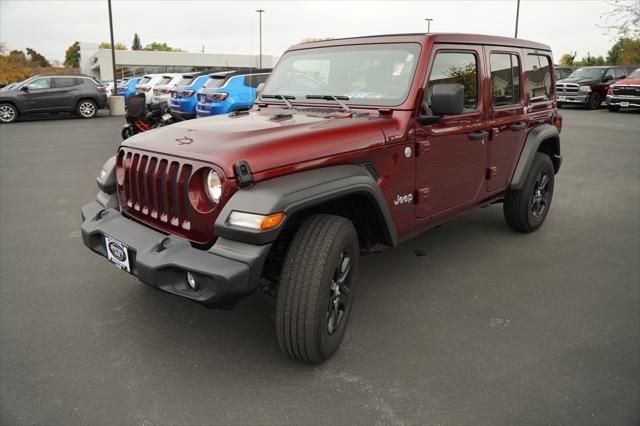
[[[256,101],[256,88],[264,83],[271,69],[221,71],[209,74],[198,90],[198,117],[246,110]]]

